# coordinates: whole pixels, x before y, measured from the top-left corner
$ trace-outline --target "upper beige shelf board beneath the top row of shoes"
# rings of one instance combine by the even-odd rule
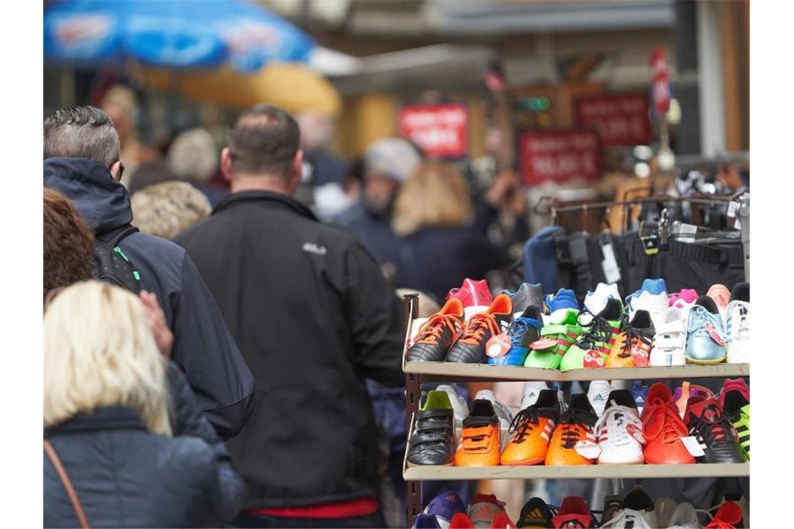
[[[728,378],[750,376],[750,364],[715,364],[714,366],[671,367],[603,367],[570,371],[544,370],[523,366],[490,366],[457,362],[405,362],[407,374],[421,374],[422,381],[587,381],[642,380],[653,378]]]

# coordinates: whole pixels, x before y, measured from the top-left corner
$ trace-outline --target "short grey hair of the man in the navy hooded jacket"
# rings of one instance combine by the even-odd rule
[[[118,132],[104,110],[73,106],[56,110],[44,119],[44,159],[87,158],[110,167],[118,161],[120,152]]]

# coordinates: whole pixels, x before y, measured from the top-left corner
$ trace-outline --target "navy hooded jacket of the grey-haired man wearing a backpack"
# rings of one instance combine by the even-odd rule
[[[44,186],[70,199],[100,235],[133,220],[127,190],[90,159],[45,159]],[[174,332],[172,359],[198,404],[219,435],[237,435],[252,412],[254,381],[195,265],[183,248],[145,233],[119,246],[141,273],[141,288],[160,301]]]

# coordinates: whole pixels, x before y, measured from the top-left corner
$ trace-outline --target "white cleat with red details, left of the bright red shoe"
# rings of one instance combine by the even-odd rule
[[[628,389],[609,394],[607,409],[595,424],[595,437],[601,448],[599,464],[638,465],[645,461],[642,420]]]

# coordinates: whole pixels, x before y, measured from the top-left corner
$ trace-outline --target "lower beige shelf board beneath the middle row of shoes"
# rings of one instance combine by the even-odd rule
[[[695,463],[692,465],[583,465],[583,466],[409,466],[403,479],[595,479],[596,477],[729,477],[750,476],[750,463]]]

